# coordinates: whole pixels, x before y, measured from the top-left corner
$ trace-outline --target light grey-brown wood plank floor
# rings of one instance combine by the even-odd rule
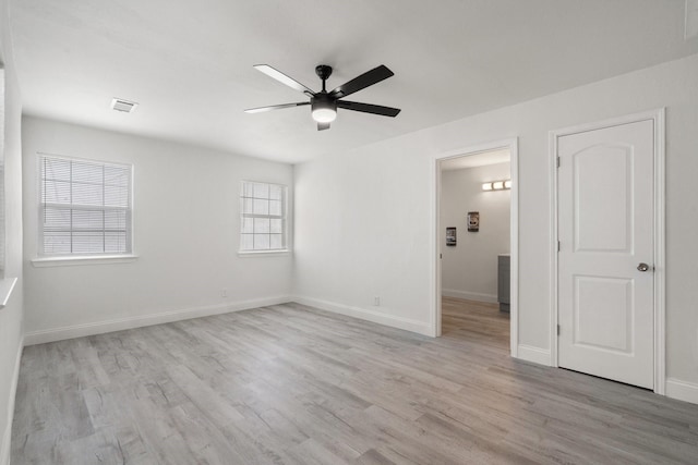
[[[296,304],[26,347],[12,464],[698,463],[698,405]]]

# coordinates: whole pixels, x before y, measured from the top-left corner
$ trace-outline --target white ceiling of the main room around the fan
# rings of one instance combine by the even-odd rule
[[[11,0],[24,110],[253,157],[300,162],[698,52],[684,0]],[[395,76],[349,99],[317,132],[311,88],[385,64]],[[140,103],[110,109],[113,97]]]

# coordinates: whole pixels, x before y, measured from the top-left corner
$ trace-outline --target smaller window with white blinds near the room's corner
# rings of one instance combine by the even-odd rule
[[[286,186],[242,182],[240,252],[286,250]]]

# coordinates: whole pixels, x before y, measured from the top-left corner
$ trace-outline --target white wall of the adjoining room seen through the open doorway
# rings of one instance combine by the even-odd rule
[[[510,250],[512,192],[482,191],[510,178],[510,163],[443,171],[441,175],[442,295],[497,302],[497,255]],[[480,212],[480,231],[468,232],[468,211]],[[447,246],[446,228],[457,228]]]

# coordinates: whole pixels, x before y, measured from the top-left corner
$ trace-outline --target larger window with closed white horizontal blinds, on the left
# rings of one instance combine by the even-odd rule
[[[39,255],[132,253],[133,167],[39,156]]]

